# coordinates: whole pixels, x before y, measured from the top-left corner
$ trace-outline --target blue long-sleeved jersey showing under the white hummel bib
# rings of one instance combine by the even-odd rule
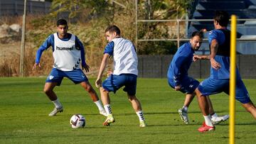
[[[68,33],[68,38],[63,38],[61,40],[68,41],[68,40],[70,40],[71,36],[72,36],[72,34]],[[47,50],[50,46],[52,46],[53,51],[54,51],[54,36],[53,36],[53,34],[49,35],[48,38],[46,38],[46,40],[43,42],[43,45],[41,45],[40,48],[38,49],[38,51],[36,52],[36,63],[40,62],[40,58],[41,58],[43,51]],[[75,36],[75,47],[80,48],[82,66],[85,66],[85,49],[77,36]]]

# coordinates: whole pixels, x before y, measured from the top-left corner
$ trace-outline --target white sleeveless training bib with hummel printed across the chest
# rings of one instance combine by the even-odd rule
[[[79,69],[81,52],[79,48],[75,48],[75,35],[72,34],[68,41],[60,40],[57,33],[54,33],[53,36],[53,67],[62,71]]]

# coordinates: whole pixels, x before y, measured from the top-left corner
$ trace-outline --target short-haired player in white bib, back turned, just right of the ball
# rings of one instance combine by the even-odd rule
[[[124,92],[127,92],[129,101],[134,111],[139,117],[139,126],[145,127],[145,119],[142,112],[142,106],[139,99],[135,96],[137,89],[138,60],[134,45],[130,40],[121,37],[121,32],[117,26],[109,26],[105,30],[107,41],[109,42],[104,51],[99,74],[95,82],[96,87],[100,87],[100,94],[107,119],[103,123],[104,126],[110,126],[114,123],[110,106],[110,92],[117,92],[124,86]],[[112,57],[114,60],[114,71],[110,72],[109,77],[102,82],[102,74],[107,65],[107,60]]]

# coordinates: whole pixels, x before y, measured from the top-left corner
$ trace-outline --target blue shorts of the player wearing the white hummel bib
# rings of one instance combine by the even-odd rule
[[[62,71],[56,68],[53,68],[46,79],[46,82],[58,82],[58,86],[60,86],[63,77],[68,77],[68,79],[72,80],[75,84],[79,84],[81,82],[87,82],[88,79],[82,70],[72,70],[72,71]]]

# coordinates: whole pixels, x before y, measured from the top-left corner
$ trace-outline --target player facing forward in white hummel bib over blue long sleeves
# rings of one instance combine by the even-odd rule
[[[40,58],[44,50],[50,46],[53,48],[53,69],[46,79],[46,84],[43,92],[48,98],[53,101],[55,108],[49,113],[49,116],[55,116],[56,113],[63,111],[63,106],[60,104],[57,95],[53,92],[55,86],[60,86],[63,77],[68,77],[75,84],[81,86],[90,94],[92,101],[97,105],[100,114],[107,116],[105,109],[99,100],[97,93],[90,85],[87,77],[82,72],[85,69],[89,72],[89,66],[85,63],[85,50],[77,36],[68,33],[68,23],[65,19],[57,21],[58,33],[51,34],[46,41],[41,45],[36,53],[36,63],[33,65],[33,70],[36,67],[41,67]],[[80,63],[82,62],[82,70]]]

